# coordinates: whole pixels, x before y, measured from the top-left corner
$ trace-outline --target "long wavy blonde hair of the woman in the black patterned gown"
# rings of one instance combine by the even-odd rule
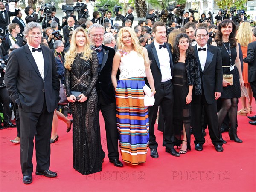
[[[92,52],[93,50],[90,49],[91,43],[88,40],[87,33],[82,27],[78,27],[74,30],[71,38],[71,43],[70,43],[70,49],[65,55],[65,68],[71,70],[71,66],[75,60],[75,57],[77,55],[77,45],[76,45],[76,34],[78,32],[83,32],[85,34],[85,45],[84,45],[84,50],[83,54],[81,55],[81,59],[84,60],[90,60],[92,58]]]

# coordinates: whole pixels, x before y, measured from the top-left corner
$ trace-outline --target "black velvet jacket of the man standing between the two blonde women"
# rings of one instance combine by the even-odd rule
[[[111,72],[115,49],[102,44],[103,61],[96,83],[97,93],[102,93],[106,104],[116,102],[115,90],[111,81]]]

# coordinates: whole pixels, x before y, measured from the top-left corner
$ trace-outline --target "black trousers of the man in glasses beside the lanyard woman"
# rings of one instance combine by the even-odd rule
[[[223,143],[220,140],[220,132],[218,129],[217,102],[215,101],[212,104],[208,104],[203,90],[202,95],[192,96],[191,118],[193,118],[195,145],[198,143],[203,145],[205,143],[205,138],[202,133],[202,106],[204,107],[204,114],[207,118],[209,135],[213,145],[222,145]]]

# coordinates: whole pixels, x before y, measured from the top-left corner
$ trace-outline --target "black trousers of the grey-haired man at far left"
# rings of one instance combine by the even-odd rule
[[[50,167],[50,138],[53,112],[47,112],[46,102],[40,113],[23,112],[19,107],[20,117],[20,164],[23,175],[33,172],[33,150],[35,138],[36,170],[43,171]]]

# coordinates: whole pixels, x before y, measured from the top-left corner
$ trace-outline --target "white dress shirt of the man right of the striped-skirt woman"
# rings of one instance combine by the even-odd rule
[[[170,56],[167,47],[159,49],[159,43],[154,41],[156,50],[157,50],[157,56],[160,63],[160,69],[162,74],[162,82],[166,82],[170,79],[172,79],[171,75],[171,64],[170,64]]]

